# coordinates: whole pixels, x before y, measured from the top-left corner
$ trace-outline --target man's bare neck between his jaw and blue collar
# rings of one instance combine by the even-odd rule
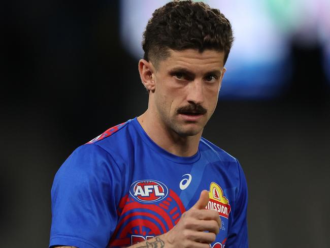
[[[147,110],[138,121],[147,135],[164,150],[181,157],[193,156],[197,150],[202,132],[194,136],[180,136],[169,130]]]

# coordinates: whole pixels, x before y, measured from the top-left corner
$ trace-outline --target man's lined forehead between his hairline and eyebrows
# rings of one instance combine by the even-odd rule
[[[204,50],[199,52],[195,49],[172,50],[170,56],[159,62],[159,69],[172,69],[182,67],[192,70],[222,70],[224,52]]]

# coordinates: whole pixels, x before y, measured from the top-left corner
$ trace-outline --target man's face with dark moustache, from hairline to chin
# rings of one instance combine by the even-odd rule
[[[170,49],[153,74],[151,100],[161,125],[180,136],[203,131],[218,101],[224,75],[223,52]]]

